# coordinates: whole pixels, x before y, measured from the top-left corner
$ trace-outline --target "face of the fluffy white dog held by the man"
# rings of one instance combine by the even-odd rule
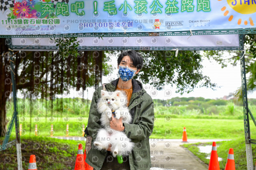
[[[110,109],[118,109],[121,105],[121,91],[116,90],[114,92],[109,92],[101,90],[100,102],[105,103]]]

